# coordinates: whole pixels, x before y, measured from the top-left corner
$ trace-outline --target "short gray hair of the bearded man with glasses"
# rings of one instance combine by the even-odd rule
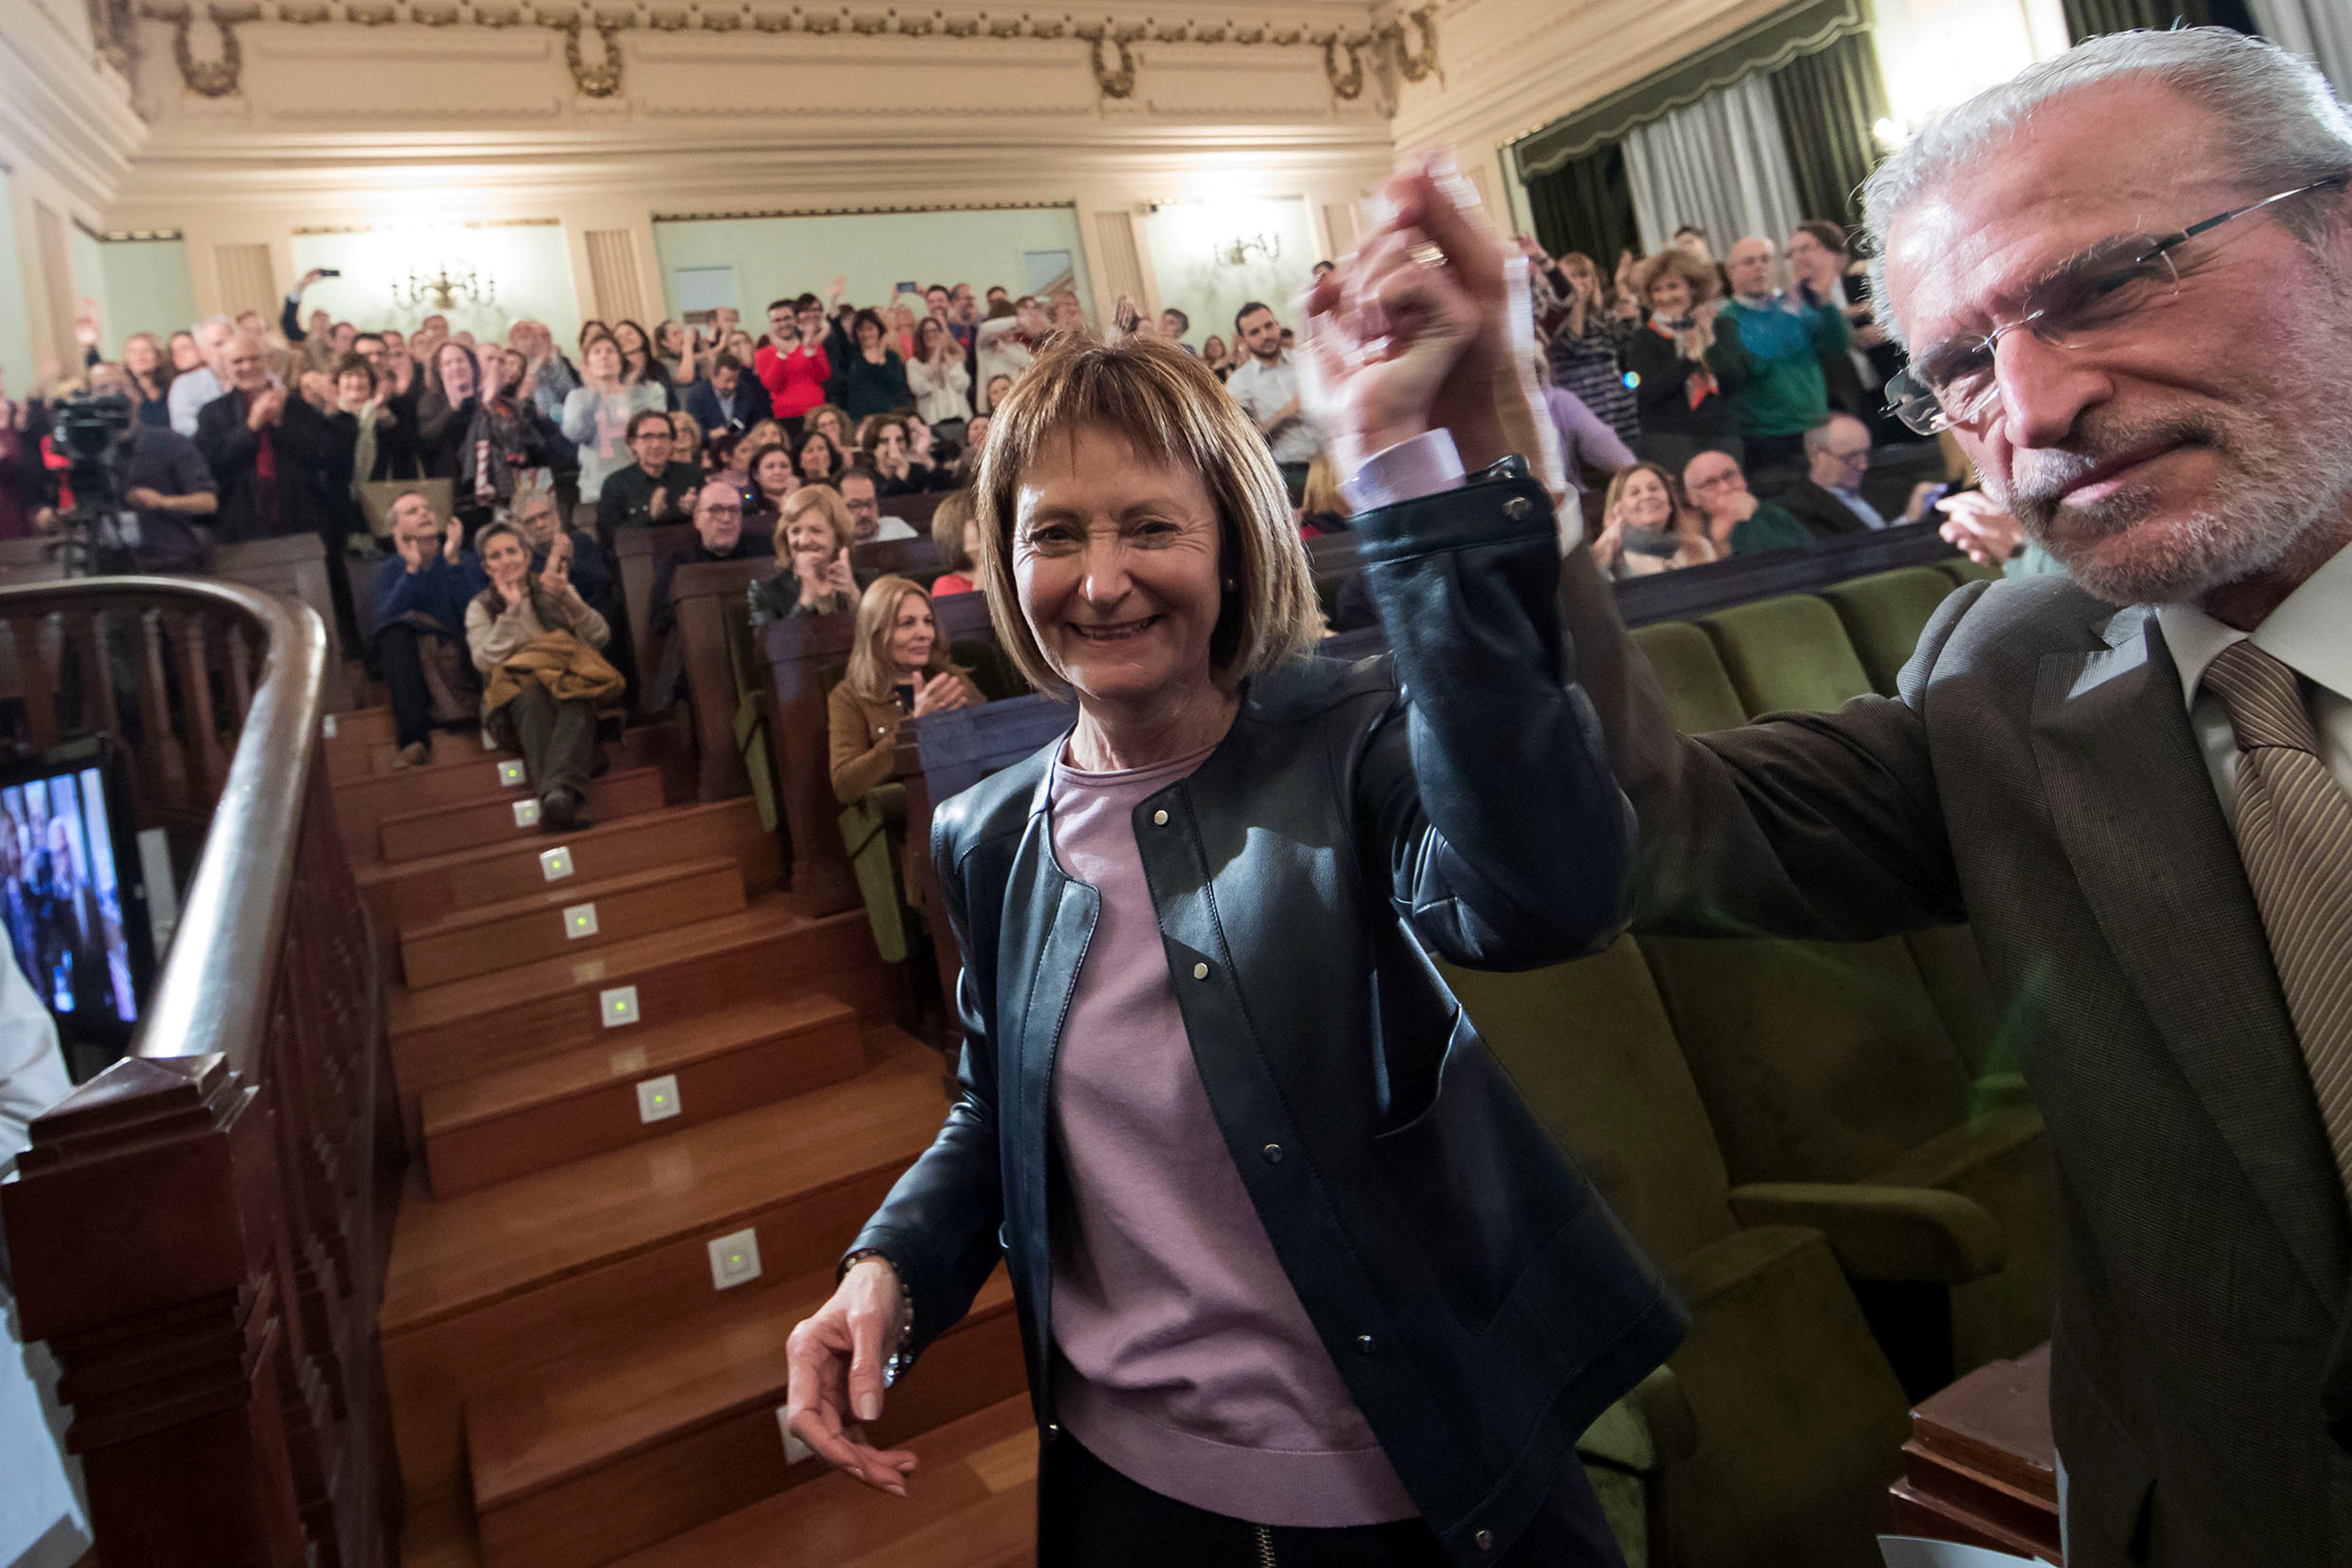
[[[2150,78],[2206,108],[2249,190],[2270,195],[2352,167],[2352,115],[2312,61],[2230,28],[2107,33],[2027,66],[1999,87],[1936,115],[1863,186],[1870,235],[1870,296],[1879,324],[1903,341],[1886,303],[1886,233],[1931,186],[1962,172],[2070,92],[2117,78]],[[2317,240],[2340,212],[2319,202],[2284,205],[2279,221]]]

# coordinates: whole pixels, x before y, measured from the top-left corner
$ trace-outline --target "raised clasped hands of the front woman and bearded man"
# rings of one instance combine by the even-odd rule
[[[1392,214],[1308,292],[1305,407],[1341,477],[1423,430],[1451,430],[1468,468],[1510,451],[1503,244],[1458,174],[1388,181]]]

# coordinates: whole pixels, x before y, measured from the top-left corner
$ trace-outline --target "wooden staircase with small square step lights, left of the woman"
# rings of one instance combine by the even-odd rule
[[[381,1335],[409,1568],[1028,1561],[1035,1432],[1002,1272],[891,1392],[908,1500],[788,1455],[783,1347],[946,1112],[863,912],[779,891],[750,799],[668,804],[626,736],[548,835],[473,738],[327,741],[412,1166]]]

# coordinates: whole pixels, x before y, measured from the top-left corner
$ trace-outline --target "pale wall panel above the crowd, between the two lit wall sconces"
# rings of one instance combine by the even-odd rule
[[[682,268],[731,266],[736,310],[753,334],[771,299],[823,296],[833,277],[847,282],[856,306],[887,303],[901,282],[969,282],[974,292],[1004,284],[1028,289],[1025,252],[1070,252],[1077,296],[1094,310],[1087,247],[1075,207],[1014,207],[1000,212],[873,212],[804,219],[694,219],[654,223],[668,315],[680,315]],[[647,322],[652,327],[652,322]]]

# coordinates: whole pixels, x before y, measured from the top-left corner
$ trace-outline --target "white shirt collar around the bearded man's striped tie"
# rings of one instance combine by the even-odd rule
[[[2190,705],[2190,729],[2206,755],[2213,792],[2223,816],[2237,827],[2237,738],[2230,733],[2230,710],[2218,691],[2204,691],[2206,668],[2232,642],[2249,637],[2223,625],[2194,604],[2159,604],[2157,623],[2164,646],[2180,665],[2180,698]],[[2336,557],[2286,595],[2263,625],[2251,632],[2263,649],[2303,679],[2312,682],[2312,729],[2319,731],[2319,757],[2336,783],[2352,792],[2352,550]]]

